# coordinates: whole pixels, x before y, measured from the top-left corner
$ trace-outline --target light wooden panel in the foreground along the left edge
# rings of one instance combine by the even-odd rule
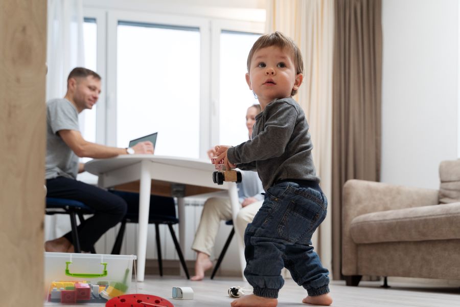
[[[0,298],[43,305],[47,2],[0,0]]]

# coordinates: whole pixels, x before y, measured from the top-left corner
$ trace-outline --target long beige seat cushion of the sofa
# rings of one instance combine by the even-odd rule
[[[357,244],[460,238],[460,203],[366,213],[350,225]]]

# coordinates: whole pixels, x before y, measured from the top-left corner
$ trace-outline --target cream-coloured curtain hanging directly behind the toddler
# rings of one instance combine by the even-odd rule
[[[281,31],[297,43],[304,57],[304,83],[294,97],[304,109],[313,141],[313,160],[329,212],[313,236],[324,266],[332,264],[332,44],[333,0],[268,0],[266,32]]]

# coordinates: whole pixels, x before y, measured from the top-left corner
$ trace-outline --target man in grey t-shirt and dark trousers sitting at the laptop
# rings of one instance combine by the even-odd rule
[[[126,214],[126,202],[117,195],[77,181],[84,165],[79,157],[111,158],[127,153],[153,153],[151,142],[132,148],[116,148],[87,142],[81,136],[78,114],[91,109],[101,92],[101,77],[85,68],[75,68],[67,78],[64,98],[47,102],[47,196],[71,199],[93,208],[96,213],[78,226],[82,251],[90,251],[97,240]],[[73,252],[72,233],[47,241],[47,252]]]

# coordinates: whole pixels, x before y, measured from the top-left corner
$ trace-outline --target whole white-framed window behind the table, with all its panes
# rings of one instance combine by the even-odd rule
[[[96,140],[126,147],[131,139],[158,132],[156,155],[201,159],[220,141],[247,140],[246,108],[257,100],[245,82],[246,58],[256,33],[263,32],[262,22],[192,17],[185,11],[180,16],[85,11],[97,17],[97,25],[85,19],[85,50],[97,51],[103,77],[98,112],[85,112],[97,117]],[[96,30],[97,37],[86,37]],[[87,140],[90,131],[95,129],[85,125]]]

